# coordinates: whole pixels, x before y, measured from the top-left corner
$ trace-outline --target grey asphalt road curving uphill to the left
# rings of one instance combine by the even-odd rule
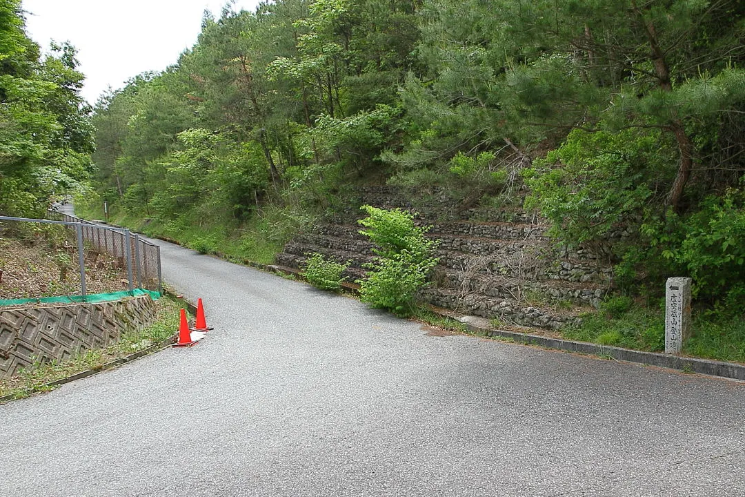
[[[744,496],[745,385],[471,337],[162,244],[216,327],[0,406],[0,496]]]

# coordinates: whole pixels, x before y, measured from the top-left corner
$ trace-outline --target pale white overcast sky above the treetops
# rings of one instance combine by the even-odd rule
[[[22,0],[29,37],[77,48],[86,75],[83,97],[94,104],[107,89],[145,71],[162,71],[197,41],[204,10],[220,16],[225,0]],[[237,0],[256,10],[259,0]]]

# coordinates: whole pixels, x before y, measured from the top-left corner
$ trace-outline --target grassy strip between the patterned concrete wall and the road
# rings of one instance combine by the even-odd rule
[[[48,383],[87,370],[101,370],[111,361],[158,344],[176,333],[179,309],[175,300],[161,297],[156,301],[156,320],[153,325],[136,332],[124,333],[115,344],[104,349],[88,350],[62,363],[39,359],[30,369],[22,370],[19,376],[0,380],[0,397],[13,395],[16,399],[22,399],[33,393],[54,390],[55,387],[49,387]]]

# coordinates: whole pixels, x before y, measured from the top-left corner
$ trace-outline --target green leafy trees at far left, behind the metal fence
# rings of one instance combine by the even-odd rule
[[[94,130],[75,48],[55,44],[42,57],[20,3],[0,1],[0,213],[38,217],[89,180]]]

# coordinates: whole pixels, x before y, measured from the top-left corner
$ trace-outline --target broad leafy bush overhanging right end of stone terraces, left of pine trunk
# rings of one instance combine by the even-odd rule
[[[527,209],[539,209],[551,232],[576,246],[635,219],[670,168],[659,153],[659,133],[574,130],[566,142],[536,159],[523,176]]]

